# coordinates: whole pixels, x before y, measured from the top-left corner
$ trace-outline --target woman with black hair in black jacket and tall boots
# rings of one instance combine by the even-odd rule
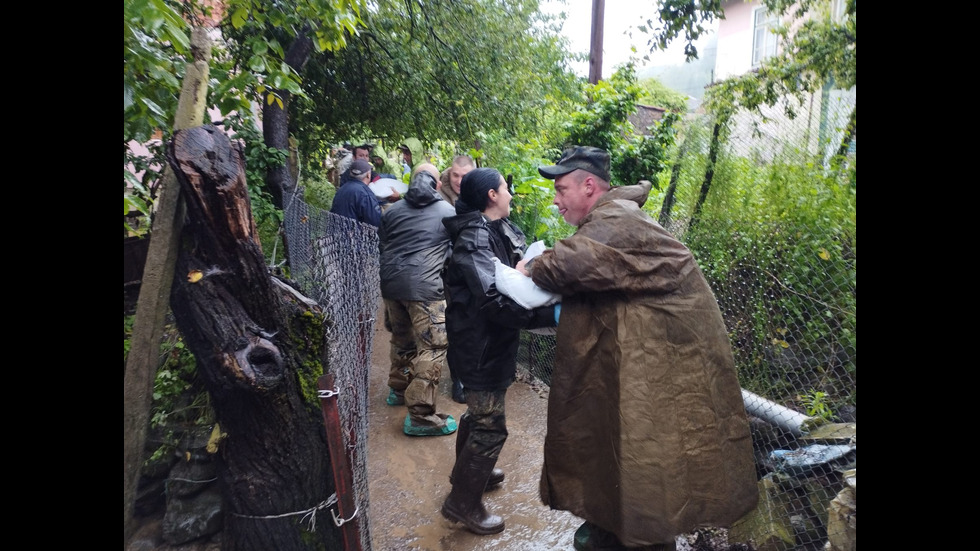
[[[467,406],[442,514],[476,534],[504,529],[503,519],[483,506],[483,491],[504,479],[494,466],[507,440],[504,397],[516,377],[520,330],[556,325],[555,306],[527,310],[494,284],[493,258],[514,267],[527,247],[507,219],[511,197],[500,172],[477,168],[463,177],[456,216],[442,220],[453,242],[445,274],[448,359]]]

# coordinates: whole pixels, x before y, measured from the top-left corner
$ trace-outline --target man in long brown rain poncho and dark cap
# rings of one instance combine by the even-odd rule
[[[610,188],[609,154],[565,151],[555,200],[575,234],[518,270],[562,295],[541,499],[585,519],[576,549],[674,549],[758,500],[728,334],[690,250]]]

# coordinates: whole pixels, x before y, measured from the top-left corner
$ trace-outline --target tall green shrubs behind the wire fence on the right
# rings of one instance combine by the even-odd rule
[[[690,215],[703,179],[686,177],[675,218]],[[742,384],[753,392],[792,403],[810,388],[829,411],[856,405],[852,177],[792,148],[767,162],[722,154],[699,222],[683,234],[722,307]]]

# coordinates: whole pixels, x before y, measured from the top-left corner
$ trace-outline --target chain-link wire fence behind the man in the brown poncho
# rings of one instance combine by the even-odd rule
[[[644,205],[694,253],[728,328],[762,495],[729,541],[755,548],[854,537],[840,503],[856,484],[856,150],[841,147],[854,96],[824,96],[793,120],[743,113],[714,144],[710,116],[689,121]],[[555,337],[521,339],[518,361],[550,384]]]

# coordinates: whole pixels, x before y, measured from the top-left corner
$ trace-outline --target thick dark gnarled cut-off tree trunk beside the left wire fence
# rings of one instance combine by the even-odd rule
[[[240,149],[206,125],[176,133],[168,157],[187,208],[171,309],[226,434],[222,549],[341,549],[317,397],[324,314],[270,275]]]

